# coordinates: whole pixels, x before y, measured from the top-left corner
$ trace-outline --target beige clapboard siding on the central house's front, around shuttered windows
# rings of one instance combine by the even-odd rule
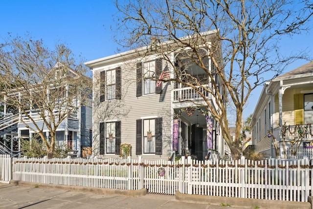
[[[153,59],[153,58],[152,58]],[[97,67],[93,69],[93,154],[99,155],[99,124],[100,122],[121,121],[121,144],[129,143],[132,146],[131,154],[133,157],[136,150],[136,119],[162,117],[162,155],[149,154],[144,155],[145,159],[167,159],[170,156],[171,144],[171,87],[167,86],[167,91],[161,94],[149,94],[136,97],[136,63],[140,61],[133,61],[125,63],[123,61],[115,62],[104,67]],[[164,61],[163,61],[164,62]],[[165,64],[163,63],[163,67]],[[99,102],[99,81],[101,70],[114,69],[121,67],[122,76],[122,94],[121,100],[109,100]],[[162,67],[162,68],[163,68]],[[163,90],[166,86],[162,84]],[[104,108],[110,105],[107,113]],[[115,107],[115,108],[112,108]],[[115,157],[118,155],[106,155],[105,157]]]

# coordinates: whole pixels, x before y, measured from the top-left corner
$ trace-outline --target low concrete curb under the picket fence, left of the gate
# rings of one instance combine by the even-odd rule
[[[95,187],[86,187],[86,186],[66,186],[66,185],[52,185],[52,184],[41,184],[34,182],[23,182],[11,180],[10,184],[20,185],[20,186],[32,186],[32,187],[41,187],[41,188],[55,188],[55,189],[64,189],[69,191],[81,191],[81,192],[92,192],[96,194],[110,194],[110,195],[122,195],[129,197],[139,197],[147,194],[147,189],[139,190],[124,190],[124,189],[111,189],[111,188],[95,188]]]

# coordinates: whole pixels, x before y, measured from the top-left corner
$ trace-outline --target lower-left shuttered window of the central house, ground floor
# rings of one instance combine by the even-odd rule
[[[100,123],[100,155],[120,153],[121,122]]]

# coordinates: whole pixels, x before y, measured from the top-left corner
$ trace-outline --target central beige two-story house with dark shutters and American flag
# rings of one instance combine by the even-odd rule
[[[208,38],[213,34],[208,32]],[[93,72],[93,156],[118,158],[121,144],[126,143],[134,158],[157,160],[189,154],[203,160],[208,154],[205,108],[191,101],[204,102],[189,87],[174,82],[156,84],[162,70],[165,77],[174,77],[172,65],[153,52],[139,55],[147,48],[85,63]],[[169,52],[176,68],[199,78],[205,76],[195,64],[189,66],[188,60],[180,59],[180,53],[183,51]],[[206,63],[211,69],[209,58]],[[185,65],[188,67],[183,68]],[[209,85],[209,80],[205,82]],[[220,126],[211,122],[212,149],[223,155]]]

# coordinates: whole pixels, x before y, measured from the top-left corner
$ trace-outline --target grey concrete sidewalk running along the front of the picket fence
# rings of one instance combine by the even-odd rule
[[[29,183],[28,183],[29,184]],[[33,183],[31,183],[33,184]],[[222,197],[207,197],[203,195],[158,195],[146,194],[134,197],[132,194],[119,195],[112,193],[92,192],[92,189],[73,191],[72,187],[62,189],[54,185],[21,186],[0,184],[1,209],[311,209],[310,203],[295,203],[275,201],[281,207],[276,207],[271,201],[258,202],[245,199],[241,206],[233,200]],[[212,199],[214,198],[214,199]],[[238,198],[236,200],[238,202]],[[221,206],[221,205],[224,206]],[[259,204],[259,205],[254,205]]]

